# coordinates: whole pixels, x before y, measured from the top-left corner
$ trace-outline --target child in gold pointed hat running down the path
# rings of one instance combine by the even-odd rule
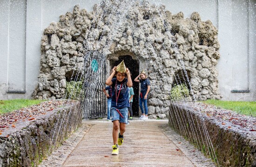
[[[115,72],[114,72],[115,71]],[[127,78],[125,78],[127,75]],[[116,78],[113,78],[116,76]],[[132,87],[130,71],[125,68],[124,61],[112,69],[112,73],[106,80],[106,84],[112,86],[111,115],[113,116],[113,151],[112,155],[119,154],[118,145],[123,143],[125,125],[128,121],[128,87]],[[120,131],[120,133],[118,133]]]

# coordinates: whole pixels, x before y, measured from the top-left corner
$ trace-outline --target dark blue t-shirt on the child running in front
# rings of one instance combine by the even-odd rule
[[[127,86],[128,79],[124,78],[122,82],[119,82],[116,80],[116,78],[113,78],[111,81],[112,81],[111,107],[116,107],[116,108],[130,107],[129,99],[128,99],[129,89]],[[118,96],[118,93],[119,93],[119,96]],[[116,96],[118,96],[117,105],[116,105]]]

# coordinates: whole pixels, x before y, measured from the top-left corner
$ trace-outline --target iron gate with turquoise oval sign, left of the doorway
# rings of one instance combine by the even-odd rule
[[[106,117],[106,60],[92,53],[85,57],[83,119]]]

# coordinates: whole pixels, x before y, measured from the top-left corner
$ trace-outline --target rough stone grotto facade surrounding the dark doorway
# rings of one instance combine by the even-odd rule
[[[63,98],[66,81],[72,74],[84,73],[83,56],[90,52],[108,60],[121,55],[139,60],[151,82],[149,115],[165,117],[175,74],[183,69],[195,99],[221,98],[215,67],[220,45],[210,20],[202,21],[196,12],[185,19],[182,12],[172,14],[147,1],[120,12],[122,6],[114,3],[102,2],[92,12],[74,6],[73,13],[61,15],[44,30],[34,98]]]

